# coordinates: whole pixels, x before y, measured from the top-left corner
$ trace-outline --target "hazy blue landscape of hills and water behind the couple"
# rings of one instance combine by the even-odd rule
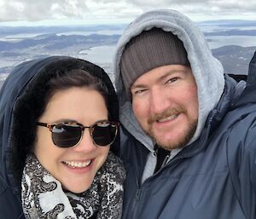
[[[256,47],[253,46],[256,44],[254,37],[256,36],[256,20],[209,20],[200,22],[199,25],[205,28],[204,34],[209,44],[215,43],[214,45],[217,44],[217,46],[214,48],[219,47],[212,49],[212,54],[222,62],[224,72],[247,74],[249,61],[256,50]],[[0,26],[0,76],[9,73],[12,67],[21,61],[38,57],[70,55],[83,58],[91,48],[115,45],[125,26],[127,25]],[[90,34],[92,32],[95,33]],[[251,47],[237,45],[221,47],[224,45],[223,42],[230,44],[229,40],[233,36],[238,36],[235,38],[239,38],[241,41],[247,39]],[[241,43],[241,45],[243,44]],[[102,60],[105,54],[107,57],[113,55],[109,50],[104,50],[102,54]],[[96,64],[104,66],[108,70],[107,72],[113,75],[112,63],[105,62]],[[0,77],[0,83],[1,80]]]

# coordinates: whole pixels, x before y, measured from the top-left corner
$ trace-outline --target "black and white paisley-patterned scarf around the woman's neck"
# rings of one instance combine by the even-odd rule
[[[84,193],[63,191],[57,181],[34,155],[26,158],[21,182],[21,199],[27,219],[119,219],[122,214],[125,169],[119,158],[109,152]]]

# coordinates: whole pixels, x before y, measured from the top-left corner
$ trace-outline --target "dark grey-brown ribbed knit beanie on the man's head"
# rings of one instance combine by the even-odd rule
[[[189,66],[183,43],[172,32],[160,28],[143,31],[131,38],[121,57],[120,67],[126,93],[143,73],[159,66],[180,64]]]

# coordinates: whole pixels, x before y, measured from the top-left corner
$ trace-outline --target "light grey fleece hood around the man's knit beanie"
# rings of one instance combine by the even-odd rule
[[[223,66],[212,56],[206,38],[193,21],[177,11],[164,9],[149,11],[134,20],[127,26],[125,32],[119,38],[114,55],[113,71],[115,74],[115,86],[119,96],[119,119],[125,126],[125,129],[138,141],[141,141],[151,152],[154,150],[154,142],[143,132],[132,112],[131,101],[129,101],[125,93],[125,87],[120,74],[120,59],[125,45],[131,38],[154,27],[161,28],[166,32],[172,32],[183,42],[195,77],[199,118],[195,135],[189,141],[189,144],[199,137],[209,112],[217,105],[224,92]]]

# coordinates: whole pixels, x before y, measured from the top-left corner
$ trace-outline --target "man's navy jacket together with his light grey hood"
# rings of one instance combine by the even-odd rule
[[[155,173],[154,142],[137,123],[120,72],[125,45],[154,27],[183,42],[199,104],[195,135],[181,151],[172,150]],[[199,28],[177,11],[149,11],[125,29],[113,66],[124,128],[120,144],[127,174],[124,219],[256,218],[255,56],[247,84],[236,83],[224,75]]]

